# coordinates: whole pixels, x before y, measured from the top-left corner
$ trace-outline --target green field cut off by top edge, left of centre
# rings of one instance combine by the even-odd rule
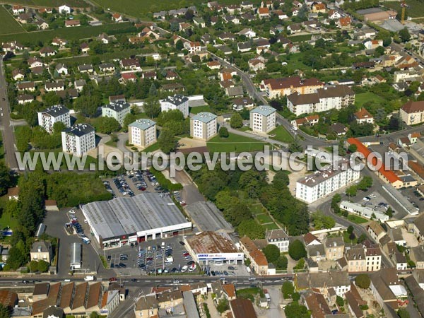
[[[102,8],[110,8],[111,11],[124,13],[128,16],[146,17],[152,16],[153,12],[168,11],[170,9],[184,8],[187,6],[197,6],[206,3],[202,0],[162,0],[162,1],[149,1],[149,0],[92,0],[93,3],[98,4]],[[219,4],[240,4],[242,0],[221,0]],[[257,2],[257,1],[254,1]],[[150,13],[150,14],[149,14]]]

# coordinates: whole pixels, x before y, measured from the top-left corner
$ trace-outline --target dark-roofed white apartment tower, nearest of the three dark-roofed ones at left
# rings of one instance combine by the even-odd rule
[[[77,124],[62,131],[62,149],[78,157],[95,148],[94,128],[89,124]]]

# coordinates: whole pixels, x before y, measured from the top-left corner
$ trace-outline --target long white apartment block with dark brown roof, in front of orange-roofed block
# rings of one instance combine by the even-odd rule
[[[313,93],[305,94],[295,91],[287,96],[288,110],[296,116],[332,109],[340,110],[353,103],[355,103],[355,92],[346,85],[318,88]]]

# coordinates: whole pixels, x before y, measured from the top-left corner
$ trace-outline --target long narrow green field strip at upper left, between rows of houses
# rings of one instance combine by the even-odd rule
[[[4,25],[2,25],[4,27]],[[4,30],[0,28],[0,30]],[[29,33],[16,33],[8,35],[0,35],[0,42],[8,42],[16,40],[25,44],[37,44],[38,42],[50,42],[54,37],[63,37],[66,40],[80,40],[87,39],[88,37],[97,36],[100,33],[107,33],[114,35],[126,31],[135,31],[136,29],[131,23],[113,23],[109,25],[98,26],[81,26],[76,28],[59,28],[57,30],[35,31]],[[1,31],[0,31],[1,32]]]

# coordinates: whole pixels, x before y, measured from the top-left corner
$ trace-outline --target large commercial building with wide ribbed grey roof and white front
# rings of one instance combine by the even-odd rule
[[[81,206],[93,236],[102,248],[191,232],[192,223],[168,196],[143,193]]]

